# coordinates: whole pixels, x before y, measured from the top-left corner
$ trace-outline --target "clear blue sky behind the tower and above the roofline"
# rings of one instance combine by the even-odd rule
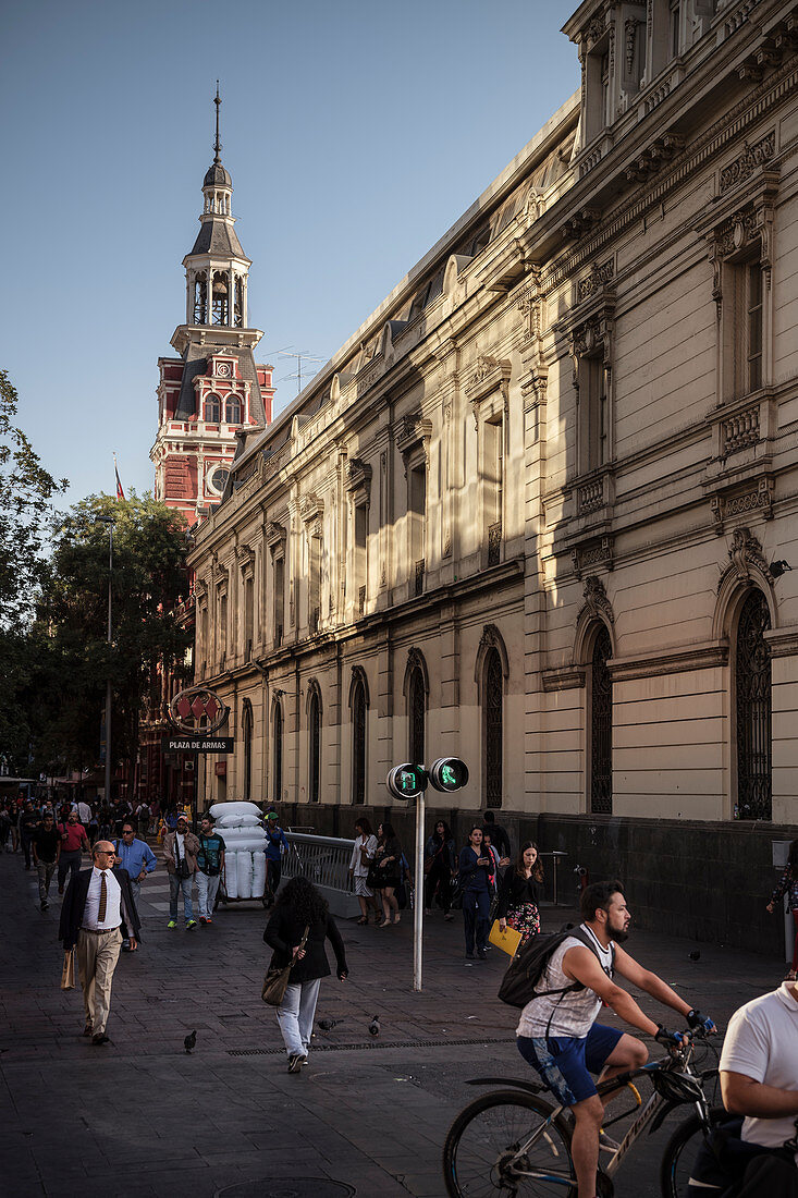
[[[152,486],[157,359],[213,151],[278,409],[576,89],[562,0],[6,5],[5,367],[68,501]],[[282,381],[284,380],[284,381]]]

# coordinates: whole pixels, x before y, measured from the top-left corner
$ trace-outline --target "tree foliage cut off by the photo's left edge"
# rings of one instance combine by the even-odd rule
[[[17,428],[19,397],[0,370],[0,752],[12,774],[28,774],[36,734],[37,686],[48,653],[31,629],[40,595],[52,501],[67,484],[53,478]]]

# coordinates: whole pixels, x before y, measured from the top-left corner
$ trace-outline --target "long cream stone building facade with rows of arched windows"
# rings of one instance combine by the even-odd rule
[[[197,678],[236,737],[206,795],[343,830],[389,766],[457,754],[461,833],[501,809],[641,919],[772,949],[798,8],[586,0],[564,32],[580,91],[246,438],[198,533]]]

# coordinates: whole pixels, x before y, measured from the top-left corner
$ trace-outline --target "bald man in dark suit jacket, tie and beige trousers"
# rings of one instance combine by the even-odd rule
[[[59,939],[65,950],[77,945],[78,974],[86,1009],[84,1036],[92,1045],[105,1045],[110,991],[122,937],[135,946],[139,915],[131,877],[114,867],[116,852],[108,840],[98,840],[91,851],[93,865],[81,870],[67,888],[61,908]]]

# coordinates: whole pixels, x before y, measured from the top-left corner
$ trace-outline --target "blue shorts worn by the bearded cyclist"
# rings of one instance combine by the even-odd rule
[[[563,1107],[596,1094],[591,1073],[600,1073],[623,1035],[594,1023],[586,1036],[518,1036],[518,1051]]]

